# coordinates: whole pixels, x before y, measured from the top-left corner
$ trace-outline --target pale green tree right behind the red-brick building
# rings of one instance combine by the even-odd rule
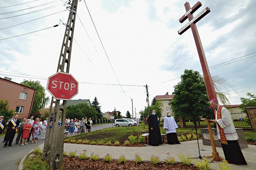
[[[36,90],[31,113],[39,112],[40,109],[45,108],[45,106],[49,103],[50,98],[46,97],[46,89],[40,84],[39,81],[24,80],[20,84],[34,88]]]

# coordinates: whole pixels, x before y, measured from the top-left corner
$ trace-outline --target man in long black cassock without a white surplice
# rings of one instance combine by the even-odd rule
[[[152,146],[163,144],[155,110],[152,110],[152,114],[148,116],[148,131],[148,144]]]

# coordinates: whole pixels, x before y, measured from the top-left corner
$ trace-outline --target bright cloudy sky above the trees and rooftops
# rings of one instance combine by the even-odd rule
[[[198,1],[189,2],[192,7]],[[246,92],[256,94],[256,1],[200,2],[194,16],[206,7],[211,10],[196,24],[210,72],[234,86],[228,98],[231,104],[240,104]],[[69,72],[79,82],[79,93],[73,99],[92,102],[96,96],[102,112],[116,108],[122,115],[132,113],[133,99],[138,113],[147,106],[146,84],[151,103],[156,95],[172,94],[185,69],[202,74],[191,29],[178,34],[188,22],[179,22],[186,13],[185,3],[78,2]],[[39,80],[46,88],[58,66],[69,14],[65,4],[65,0],[1,1],[0,77],[17,83]]]

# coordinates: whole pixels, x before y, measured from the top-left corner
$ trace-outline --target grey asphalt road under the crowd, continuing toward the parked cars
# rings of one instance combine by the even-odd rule
[[[99,124],[99,125],[93,125],[91,130],[95,131],[95,130],[110,128],[110,127],[112,127],[111,123]],[[114,124],[113,124],[113,128],[115,128]],[[1,155],[0,165],[2,168],[4,167],[4,170],[16,170],[18,168],[20,160],[28,152],[36,148],[36,146],[39,146],[40,144],[44,143],[44,139],[41,139],[41,136],[39,136],[37,143],[32,144],[31,142],[28,142],[27,145],[22,146],[20,145],[20,143],[15,144],[16,136],[17,135],[15,135],[14,140],[12,142],[12,146],[6,146],[6,148],[4,148],[4,143],[2,143],[2,141],[4,140],[4,136],[0,137],[0,155]],[[30,137],[30,139],[31,138],[32,137]]]

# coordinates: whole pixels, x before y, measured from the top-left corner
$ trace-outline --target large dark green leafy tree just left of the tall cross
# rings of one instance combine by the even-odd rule
[[[206,92],[203,77],[198,71],[184,70],[181,82],[174,86],[174,97],[170,105],[175,116],[192,119],[196,124],[203,108],[209,107],[209,100]],[[207,112],[208,113],[208,112]],[[208,114],[211,118],[211,114]]]

